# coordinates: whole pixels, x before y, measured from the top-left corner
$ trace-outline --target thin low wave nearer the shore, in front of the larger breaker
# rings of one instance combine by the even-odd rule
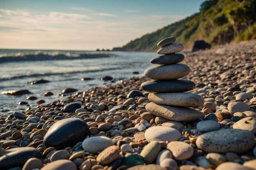
[[[77,74],[77,73],[89,73],[89,72],[99,72],[99,71],[111,71],[111,70],[117,70],[120,68],[124,68],[124,66],[120,67],[112,67],[112,68],[102,68],[102,69],[94,69],[94,70],[82,70],[82,71],[70,71],[70,72],[57,72],[57,73],[34,73],[29,75],[17,75],[13,77],[4,77],[0,78],[0,82],[6,81],[6,80],[12,80],[12,79],[22,79],[26,77],[43,77],[43,76],[52,76],[52,75],[70,75],[70,74]],[[127,67],[128,68],[128,67]]]

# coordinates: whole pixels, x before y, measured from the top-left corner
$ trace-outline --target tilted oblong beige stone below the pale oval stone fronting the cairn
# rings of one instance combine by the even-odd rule
[[[141,151],[140,155],[144,157],[147,164],[153,163],[161,150],[161,144],[158,141],[152,141]]]

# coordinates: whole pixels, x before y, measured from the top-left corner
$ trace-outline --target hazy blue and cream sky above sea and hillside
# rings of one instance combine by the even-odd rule
[[[0,0],[0,49],[112,49],[199,12],[203,1]]]

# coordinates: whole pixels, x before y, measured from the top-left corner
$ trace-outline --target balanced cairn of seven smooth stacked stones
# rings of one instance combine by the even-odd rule
[[[180,42],[175,42],[175,37],[168,37],[160,41],[157,54],[160,56],[150,60],[157,64],[146,69],[146,77],[153,79],[141,84],[144,91],[151,92],[148,99],[151,103],[146,105],[146,110],[153,115],[164,117],[173,121],[195,121],[204,118],[204,113],[193,108],[203,106],[202,96],[185,93],[193,90],[195,83],[181,79],[189,74],[190,68],[180,64],[184,55],[179,53],[184,49]],[[193,63],[191,63],[193,64]]]

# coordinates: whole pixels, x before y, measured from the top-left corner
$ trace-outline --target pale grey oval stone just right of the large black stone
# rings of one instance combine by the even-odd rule
[[[97,154],[105,148],[114,145],[114,142],[108,137],[89,137],[83,141],[83,149],[87,152]]]

